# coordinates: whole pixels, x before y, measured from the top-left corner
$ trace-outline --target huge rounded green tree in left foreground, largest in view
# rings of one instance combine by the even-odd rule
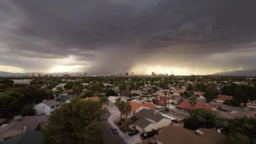
[[[102,109],[99,101],[72,99],[62,104],[50,116],[43,129],[44,143],[47,144],[104,144]]]

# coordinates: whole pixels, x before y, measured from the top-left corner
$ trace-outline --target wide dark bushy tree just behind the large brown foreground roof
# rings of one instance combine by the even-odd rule
[[[216,111],[208,109],[195,109],[190,112],[190,117],[184,120],[184,128],[213,128],[215,126],[222,125],[224,121],[225,119]]]

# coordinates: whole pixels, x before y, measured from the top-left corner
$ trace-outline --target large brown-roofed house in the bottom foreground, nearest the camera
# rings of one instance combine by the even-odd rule
[[[227,144],[227,136],[215,129],[200,128],[191,131],[180,126],[169,125],[162,128],[155,138],[157,144]]]

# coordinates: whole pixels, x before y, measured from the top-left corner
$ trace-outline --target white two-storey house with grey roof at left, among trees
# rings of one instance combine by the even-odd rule
[[[43,101],[40,104],[35,105],[35,110],[37,115],[51,115],[55,109],[60,107],[60,102],[55,100]]]

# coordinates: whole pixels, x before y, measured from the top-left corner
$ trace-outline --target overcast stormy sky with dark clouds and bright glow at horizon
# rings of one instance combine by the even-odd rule
[[[256,68],[256,0],[0,0],[0,71]]]

